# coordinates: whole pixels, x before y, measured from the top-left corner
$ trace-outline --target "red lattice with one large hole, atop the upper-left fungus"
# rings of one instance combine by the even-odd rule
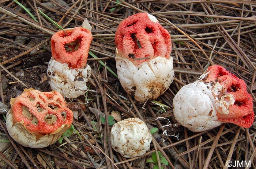
[[[72,68],[86,66],[92,39],[91,32],[82,27],[56,32],[51,39],[52,58]]]

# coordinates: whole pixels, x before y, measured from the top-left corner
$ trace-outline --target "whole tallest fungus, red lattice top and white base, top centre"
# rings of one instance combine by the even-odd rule
[[[170,34],[148,13],[129,16],[119,24],[116,67],[124,90],[139,102],[156,99],[174,79]]]

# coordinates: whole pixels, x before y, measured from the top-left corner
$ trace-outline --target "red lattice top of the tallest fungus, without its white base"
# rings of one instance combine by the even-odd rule
[[[121,21],[116,31],[115,43],[118,52],[136,65],[146,59],[133,60],[134,58],[161,56],[169,59],[172,51],[169,32],[157,19],[151,20],[147,13],[137,13]]]

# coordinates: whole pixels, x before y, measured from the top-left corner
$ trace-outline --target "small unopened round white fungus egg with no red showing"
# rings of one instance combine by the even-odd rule
[[[110,131],[112,148],[125,158],[142,156],[150,147],[152,137],[139,118],[128,118],[113,125]]]

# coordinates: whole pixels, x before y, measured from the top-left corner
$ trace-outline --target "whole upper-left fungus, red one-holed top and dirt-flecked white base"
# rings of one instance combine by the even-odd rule
[[[87,57],[92,39],[91,32],[82,27],[52,36],[52,59],[47,70],[52,90],[68,98],[77,98],[87,91],[87,76],[91,75]]]

